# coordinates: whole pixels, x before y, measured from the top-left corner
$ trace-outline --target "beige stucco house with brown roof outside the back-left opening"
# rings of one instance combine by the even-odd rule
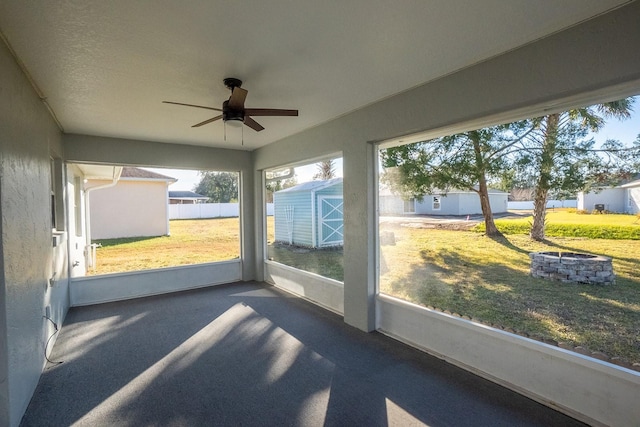
[[[119,179],[88,180],[91,193],[91,239],[169,235],[168,186],[175,178],[134,167],[123,167]],[[110,185],[113,184],[113,185]]]

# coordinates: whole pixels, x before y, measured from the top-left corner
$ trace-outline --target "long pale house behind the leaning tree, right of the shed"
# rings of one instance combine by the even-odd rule
[[[489,189],[489,203],[495,213],[507,212],[509,193]],[[381,215],[476,215],[482,214],[480,197],[473,191],[450,190],[425,194],[422,200],[403,199],[390,189],[381,189],[379,196]]]

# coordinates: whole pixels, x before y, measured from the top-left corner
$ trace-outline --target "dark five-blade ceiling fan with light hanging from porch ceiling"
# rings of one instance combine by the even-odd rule
[[[242,80],[229,77],[223,80],[224,85],[231,90],[231,96],[222,103],[222,109],[214,107],[205,107],[203,105],[184,104],[182,102],[162,101],[165,104],[182,105],[185,107],[204,108],[206,110],[220,111],[222,114],[207,119],[203,122],[196,123],[191,127],[200,127],[216,120],[222,119],[225,123],[235,126],[249,126],[256,132],[264,130],[264,127],[253,120],[254,116],[297,116],[298,110],[282,110],[277,108],[245,108],[244,100],[247,98],[248,91],[242,89]]]

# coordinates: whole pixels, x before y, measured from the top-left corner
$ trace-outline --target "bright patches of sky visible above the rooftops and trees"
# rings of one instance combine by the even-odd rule
[[[640,97],[636,97],[634,103],[634,111],[631,118],[623,121],[608,120],[605,127],[594,135],[594,138],[598,143],[602,143],[608,139],[616,139],[623,144],[630,144],[640,134]],[[186,170],[186,169],[162,169],[162,168],[144,168],[154,172],[168,175],[176,178],[178,181],[171,184],[169,187],[172,191],[179,190],[193,190],[194,187],[200,182],[198,171]],[[315,163],[311,163],[307,166],[296,167],[296,177],[298,183],[311,181],[313,175],[317,172]],[[336,175],[342,176],[342,158],[336,160]]]

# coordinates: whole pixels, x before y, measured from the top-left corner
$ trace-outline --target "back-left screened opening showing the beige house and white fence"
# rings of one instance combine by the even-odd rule
[[[96,252],[87,274],[240,258],[238,172],[75,166],[87,177],[84,184],[78,177],[75,187],[82,185],[88,199],[87,238]],[[170,204],[172,199],[185,203]],[[194,203],[198,199],[206,203]]]

